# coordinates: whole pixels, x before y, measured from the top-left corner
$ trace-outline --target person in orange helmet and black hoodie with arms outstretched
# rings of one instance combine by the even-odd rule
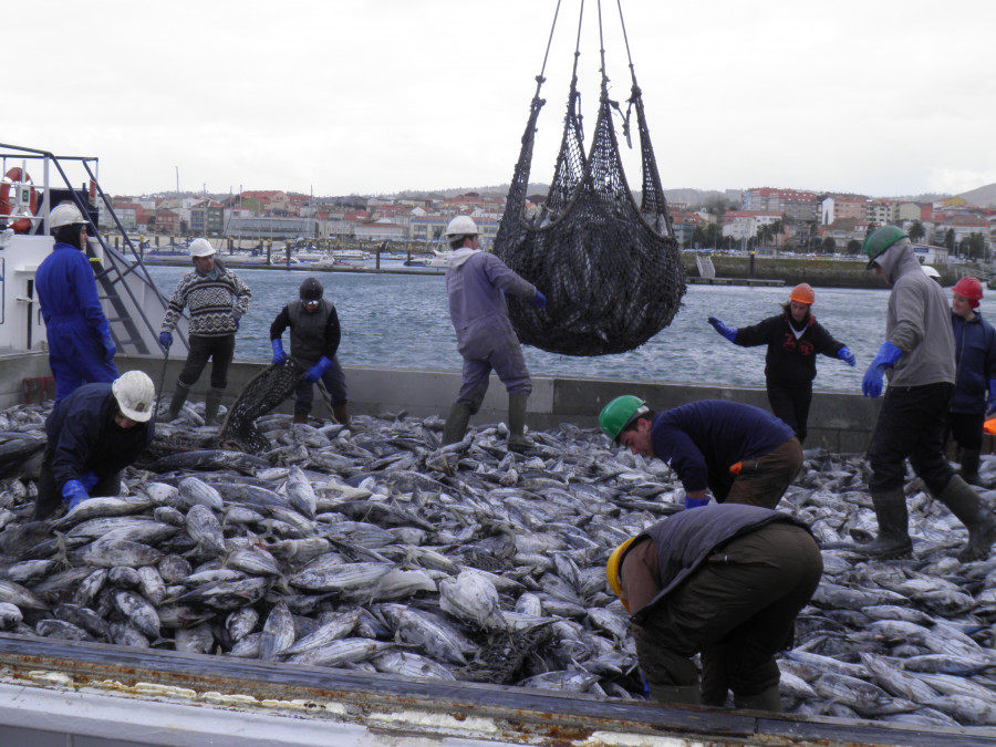
[[[727,326],[715,317],[708,322],[724,338],[741,347],[767,345],[765,384],[771,412],[795,430],[799,443],[806,442],[816,359],[822,354],[840,359],[850,366],[854,354],[838,342],[812,314],[816,293],[809,283],[796,286],[781,313],[751,326]]]

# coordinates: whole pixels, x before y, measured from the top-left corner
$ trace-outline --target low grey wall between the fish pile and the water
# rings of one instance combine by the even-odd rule
[[[44,360],[44,359],[42,359]],[[118,371],[137,369],[145,371],[158,391],[160,377],[165,381],[163,400],[168,401],[176,377],[183,367],[181,359],[170,359],[163,376],[163,359],[155,356],[118,356]],[[245,384],[267,366],[257,361],[236,360],[229,374],[228,396],[225,404],[235,401]],[[350,412],[366,415],[407,413],[415,417],[446,416],[460,387],[460,374],[456,371],[416,371],[376,366],[343,366],[350,393]],[[208,367],[194,387],[190,400],[204,400],[208,388]],[[45,373],[48,370],[45,367]],[[7,388],[7,387],[4,387]],[[8,392],[0,393],[7,395]],[[561,376],[533,376],[532,395],[529,397],[527,423],[530,428],[546,429],[561,423],[574,423],[596,427],[601,408],[620,394],[643,397],[655,409],[667,409],[698,400],[730,400],[768,409],[764,387],[735,387],[609,378],[582,378]],[[18,388],[20,396],[20,388]],[[20,401],[20,400],[18,400]],[[12,404],[8,402],[6,406]],[[280,407],[292,412],[293,397]],[[857,453],[868,447],[879,401],[860,394],[817,391],[813,393],[809,416],[807,448],[822,446],[831,452]],[[471,418],[471,425],[507,422],[508,396],[497,376],[491,376],[488,394],[480,412]],[[331,417],[318,393],[313,414]]]

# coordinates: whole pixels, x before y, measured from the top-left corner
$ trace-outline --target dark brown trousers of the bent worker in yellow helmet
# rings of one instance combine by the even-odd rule
[[[651,548],[653,542],[637,546],[623,562],[631,610],[653,596],[655,583],[660,590]],[[725,705],[729,689],[750,696],[777,685],[775,654],[791,645],[796,615],[822,572],[816,541],[795,525],[775,521],[733,540],[634,626],[643,676],[652,685],[694,686],[698,673],[691,657],[702,652],[706,705]]]

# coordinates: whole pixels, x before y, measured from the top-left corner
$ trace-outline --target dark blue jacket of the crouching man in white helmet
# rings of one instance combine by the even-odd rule
[[[117,400],[106,383],[84,384],[55,405],[45,421],[45,455],[60,495],[80,473],[104,479],[121,471],[152,443],[155,418],[122,428],[114,422],[116,413]]]

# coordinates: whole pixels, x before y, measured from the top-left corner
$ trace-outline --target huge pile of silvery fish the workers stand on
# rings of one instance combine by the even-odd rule
[[[210,443],[199,407],[157,443]],[[605,561],[684,495],[662,461],[595,429],[533,432],[517,454],[502,424],[440,447],[435,416],[271,414],[260,455],[159,449],[121,495],[32,522],[34,484],[2,455],[43,439],[45,414],[0,412],[6,633],[644,697]],[[787,712],[996,725],[996,557],[958,563],[964,528],[919,480],[907,492],[914,558],[823,550],[779,658]],[[824,544],[875,535],[860,455],[807,452],[779,508]]]

